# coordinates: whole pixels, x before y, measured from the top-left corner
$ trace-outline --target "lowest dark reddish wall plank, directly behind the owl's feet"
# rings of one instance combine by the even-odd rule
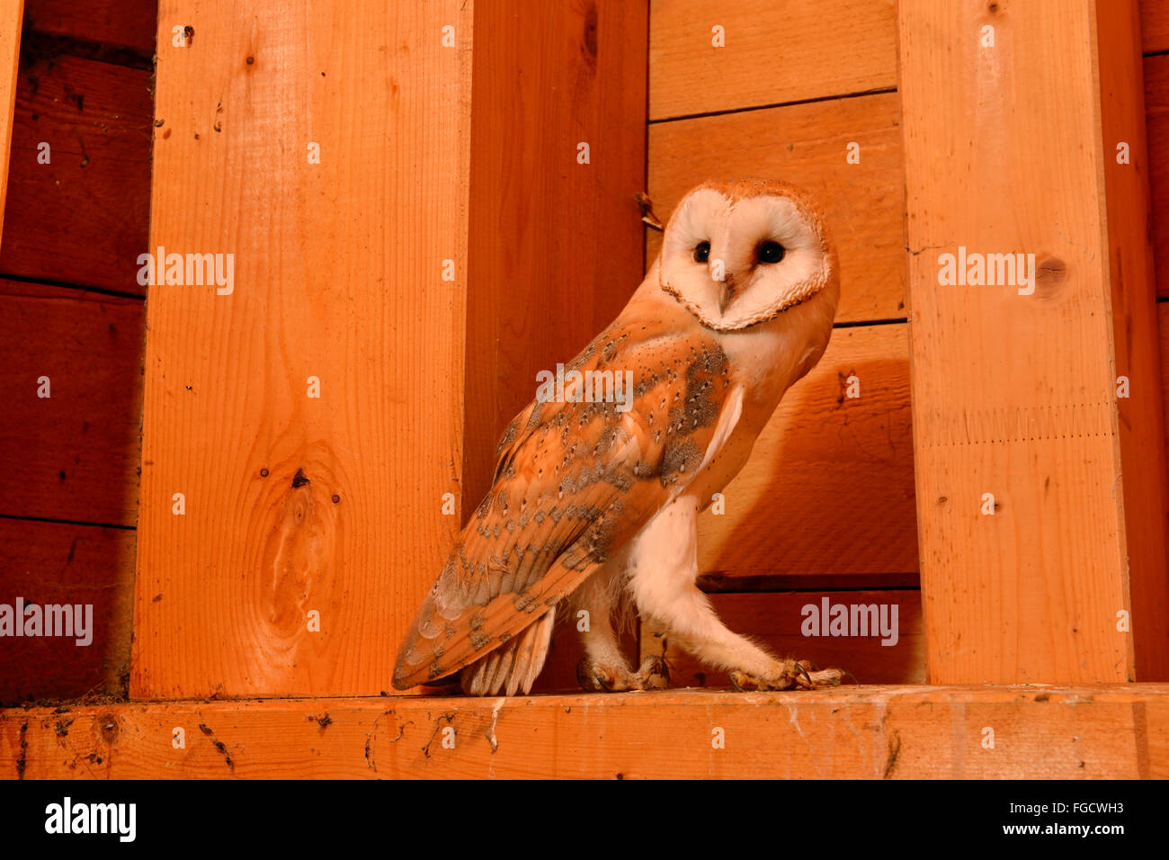
[[[711,605],[727,627],[750,637],[773,654],[845,669],[866,684],[926,682],[926,639],[918,591],[712,594]],[[845,607],[846,617],[839,615],[839,606]],[[877,607],[877,615],[870,613],[871,606]],[[832,627],[833,615],[846,619],[848,626]],[[877,620],[876,626],[870,626],[871,619]],[[881,622],[886,624],[886,635],[880,635]],[[660,640],[643,629],[642,658],[660,653]],[[731,686],[725,672],[704,666],[669,640],[665,659],[672,687]]]

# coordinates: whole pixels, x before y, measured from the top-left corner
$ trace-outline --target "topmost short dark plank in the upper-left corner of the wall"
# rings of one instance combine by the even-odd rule
[[[28,0],[27,6],[30,29],[154,53],[158,0]],[[165,33],[171,35],[171,26]]]

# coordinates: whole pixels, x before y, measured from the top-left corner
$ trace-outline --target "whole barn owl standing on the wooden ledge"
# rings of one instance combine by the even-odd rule
[[[666,686],[662,658],[634,669],[621,653],[630,603],[740,689],[839,683],[838,669],[729,631],[696,585],[698,514],[824,353],[838,298],[807,194],[765,180],[687,193],[624,310],[565,365],[556,395],[538,392],[504,432],[492,487],[422,601],[394,686],[458,672],[472,695],[526,694],[558,608],[588,619],[586,689]]]

